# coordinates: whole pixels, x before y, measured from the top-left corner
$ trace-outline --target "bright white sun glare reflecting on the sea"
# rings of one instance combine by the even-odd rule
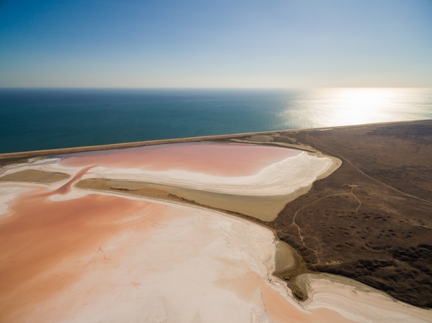
[[[287,110],[284,118],[308,120],[302,127],[333,127],[418,119],[422,105],[412,105],[421,89],[325,88],[307,92],[295,101],[301,112]],[[425,105],[426,106],[426,105]],[[421,112],[421,111],[420,111]]]

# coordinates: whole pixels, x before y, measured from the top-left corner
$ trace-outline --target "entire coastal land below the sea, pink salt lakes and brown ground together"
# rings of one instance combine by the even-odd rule
[[[3,154],[0,321],[432,322],[431,125]]]

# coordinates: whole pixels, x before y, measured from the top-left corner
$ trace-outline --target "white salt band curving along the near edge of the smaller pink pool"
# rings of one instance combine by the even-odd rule
[[[145,171],[137,168],[93,167],[87,177],[138,180],[147,183],[202,189],[222,194],[280,196],[309,187],[333,167],[331,158],[310,156],[305,152],[288,157],[248,176],[215,176],[209,172],[181,169]]]

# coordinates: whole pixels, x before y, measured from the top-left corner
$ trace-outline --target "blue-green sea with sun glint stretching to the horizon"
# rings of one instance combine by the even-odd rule
[[[424,119],[431,88],[0,88],[0,153]]]

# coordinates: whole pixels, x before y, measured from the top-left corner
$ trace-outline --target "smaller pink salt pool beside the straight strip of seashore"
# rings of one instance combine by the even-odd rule
[[[68,154],[63,156],[61,165],[149,171],[181,169],[215,176],[248,176],[301,153],[295,149],[259,145],[179,143]]]

